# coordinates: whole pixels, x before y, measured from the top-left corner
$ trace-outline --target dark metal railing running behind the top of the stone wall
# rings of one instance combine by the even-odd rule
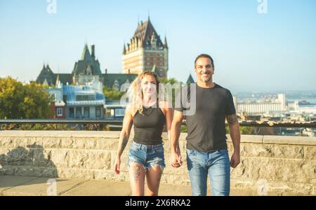
[[[17,125],[25,125],[25,124],[76,124],[76,125],[86,125],[86,124],[98,124],[98,125],[110,125],[110,127],[121,127],[123,124],[122,120],[54,120],[54,119],[29,119],[29,120],[0,120],[1,124],[17,124]],[[183,125],[185,125],[185,120],[183,121]],[[239,121],[240,126],[244,127],[308,127],[308,128],[316,128],[316,121],[312,122],[274,122],[274,121]]]

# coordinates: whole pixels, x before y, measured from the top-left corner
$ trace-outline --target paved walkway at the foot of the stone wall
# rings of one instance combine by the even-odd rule
[[[27,196],[27,195],[87,195],[87,196],[129,196],[131,189],[129,182],[86,180],[86,179],[55,179],[56,190],[48,178],[33,176],[0,176],[1,196]],[[164,196],[190,196],[190,186],[171,186],[162,184],[159,195]],[[210,195],[210,192],[208,192]],[[242,192],[232,192],[231,195],[247,195]]]

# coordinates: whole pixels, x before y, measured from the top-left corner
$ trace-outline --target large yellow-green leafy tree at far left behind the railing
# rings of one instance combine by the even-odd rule
[[[43,85],[0,78],[0,118],[50,118],[51,96]]]

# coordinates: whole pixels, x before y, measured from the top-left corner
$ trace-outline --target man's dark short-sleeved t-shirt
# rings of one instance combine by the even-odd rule
[[[187,148],[201,152],[227,148],[225,117],[236,113],[232,94],[217,84],[211,88],[199,87],[196,83],[191,85],[196,88],[184,87],[180,108],[175,109],[185,116],[185,112],[190,113],[188,110],[194,107],[192,102],[196,102],[195,112],[185,116]]]

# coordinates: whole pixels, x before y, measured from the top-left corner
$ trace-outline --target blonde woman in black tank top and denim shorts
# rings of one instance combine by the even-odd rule
[[[141,73],[131,85],[132,103],[126,107],[114,171],[119,174],[121,154],[133,125],[134,138],[128,161],[132,195],[144,195],[146,176],[146,195],[157,196],[165,167],[162,130],[166,124],[169,134],[173,111],[168,102],[159,100],[159,80],[152,71]]]

